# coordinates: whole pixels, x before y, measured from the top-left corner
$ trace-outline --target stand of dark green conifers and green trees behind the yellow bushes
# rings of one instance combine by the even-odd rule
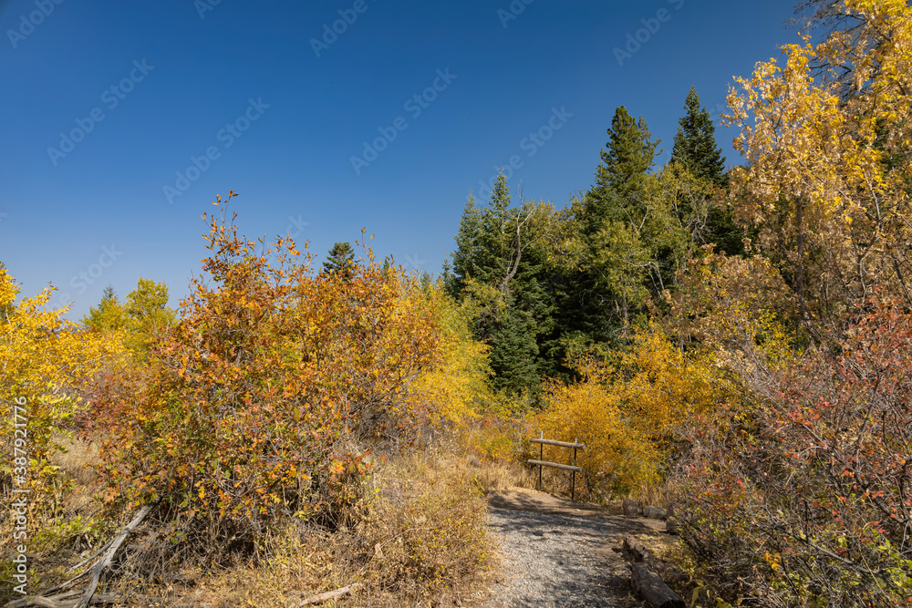
[[[538,403],[542,382],[578,375],[575,357],[624,345],[702,247],[744,252],[725,159],[691,88],[668,163],[643,117],[615,111],[595,183],[568,207],[513,204],[503,172],[491,200],[470,195],[457,249],[442,274],[447,293],[472,300],[475,336],[491,345],[493,383]]]

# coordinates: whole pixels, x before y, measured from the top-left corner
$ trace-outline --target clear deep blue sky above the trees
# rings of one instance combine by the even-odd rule
[[[718,114],[732,76],[795,41],[793,0],[512,6],[0,0],[0,261],[74,320],[140,276],[176,306],[200,215],[231,189],[248,236],[291,231],[322,257],[366,227],[378,256],[436,273],[469,191],[511,157],[511,187],[563,206],[617,106],[666,160],[691,85]]]

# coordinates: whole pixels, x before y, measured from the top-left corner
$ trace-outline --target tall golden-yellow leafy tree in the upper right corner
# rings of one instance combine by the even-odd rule
[[[746,160],[731,173],[736,215],[793,277],[803,325],[837,320],[876,285],[908,298],[912,272],[912,6],[833,4],[851,30],[736,78],[725,117]]]

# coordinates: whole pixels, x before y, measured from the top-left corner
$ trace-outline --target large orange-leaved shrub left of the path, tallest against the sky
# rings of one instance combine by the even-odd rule
[[[170,551],[253,549],[280,517],[342,523],[368,438],[412,437],[440,365],[437,305],[368,259],[313,273],[295,243],[240,236],[227,202],[181,321],[96,407],[110,513],[161,500]]]

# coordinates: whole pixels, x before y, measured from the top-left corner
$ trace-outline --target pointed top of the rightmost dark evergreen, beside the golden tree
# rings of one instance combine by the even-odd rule
[[[684,101],[684,109],[686,113],[679,119],[670,161],[681,163],[696,178],[726,185],[725,158],[716,145],[716,128],[710,113],[700,106],[700,96],[693,87]]]

